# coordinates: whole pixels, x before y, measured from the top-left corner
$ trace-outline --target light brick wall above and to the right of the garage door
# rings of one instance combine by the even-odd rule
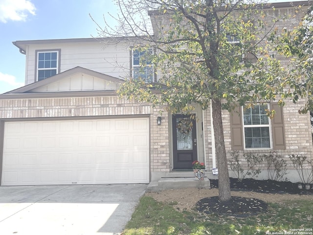
[[[162,114],[159,111],[162,110]],[[0,118],[7,120],[33,118],[99,117],[146,115],[150,117],[151,171],[170,171],[168,114],[162,107],[129,101],[117,96],[71,97],[0,100]],[[161,116],[160,126],[156,123]]]

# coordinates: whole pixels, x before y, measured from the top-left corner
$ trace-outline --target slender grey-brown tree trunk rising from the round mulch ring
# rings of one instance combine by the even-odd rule
[[[212,99],[212,119],[217,167],[219,170],[219,198],[221,201],[228,201],[230,200],[230,182],[224,143],[222,104],[220,99]]]

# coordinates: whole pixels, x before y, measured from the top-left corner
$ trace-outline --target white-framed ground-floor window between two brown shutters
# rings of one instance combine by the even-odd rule
[[[255,105],[244,109],[244,135],[246,149],[270,149],[268,105]]]

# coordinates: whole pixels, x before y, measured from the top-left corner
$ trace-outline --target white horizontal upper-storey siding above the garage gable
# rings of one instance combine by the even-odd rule
[[[124,43],[51,43],[28,45],[25,85],[35,82],[36,50],[61,50],[60,72],[81,66],[116,78],[129,76],[130,53]]]

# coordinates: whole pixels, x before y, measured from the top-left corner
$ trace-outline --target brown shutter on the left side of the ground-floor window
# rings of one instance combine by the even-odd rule
[[[241,117],[241,107],[236,107],[230,113],[230,137],[232,150],[243,150],[243,124]]]

